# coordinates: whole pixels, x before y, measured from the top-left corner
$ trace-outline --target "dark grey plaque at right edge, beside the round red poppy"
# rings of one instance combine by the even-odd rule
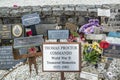
[[[103,50],[103,54],[106,57],[120,58],[120,45],[110,44],[107,49]]]

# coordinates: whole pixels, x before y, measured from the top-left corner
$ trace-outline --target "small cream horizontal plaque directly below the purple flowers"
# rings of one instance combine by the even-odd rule
[[[88,40],[105,40],[105,34],[87,34],[86,39]]]

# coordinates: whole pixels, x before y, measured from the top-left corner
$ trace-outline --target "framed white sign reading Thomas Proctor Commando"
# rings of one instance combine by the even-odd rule
[[[44,43],[43,71],[81,71],[80,43]]]

